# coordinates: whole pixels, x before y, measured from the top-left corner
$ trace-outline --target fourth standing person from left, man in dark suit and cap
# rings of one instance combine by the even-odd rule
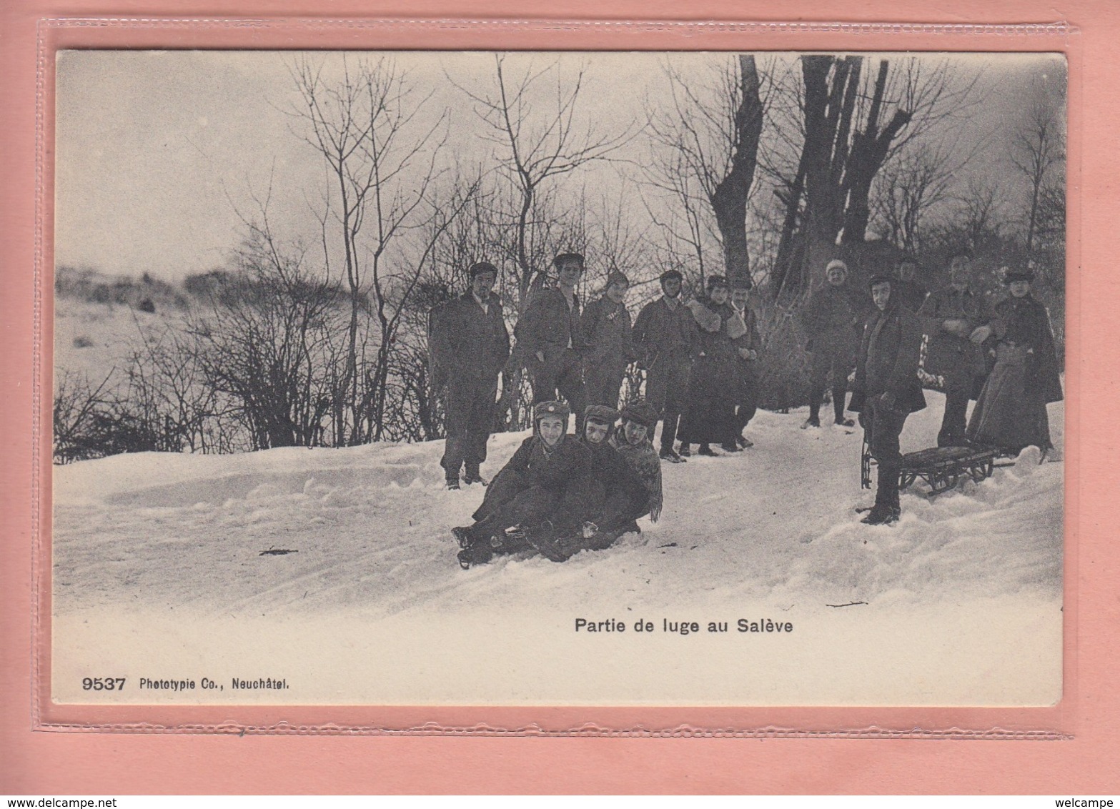
[[[634,347],[647,372],[646,401],[661,416],[661,458],[681,463],[673,443],[688,398],[697,325],[681,301],[681,273],[669,270],[660,280],[662,296],[646,304],[634,322]]]

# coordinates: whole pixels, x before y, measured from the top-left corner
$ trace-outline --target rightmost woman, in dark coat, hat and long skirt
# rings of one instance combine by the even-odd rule
[[[984,382],[969,419],[974,444],[1018,455],[1051,444],[1046,404],[1062,400],[1057,352],[1046,307],[1030,295],[1034,273],[1008,271],[1010,296],[996,305],[992,333],[997,337],[996,366]]]

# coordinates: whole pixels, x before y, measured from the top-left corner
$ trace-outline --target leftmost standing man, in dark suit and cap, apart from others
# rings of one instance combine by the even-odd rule
[[[510,356],[510,333],[502,304],[491,294],[497,268],[472,264],[470,288],[437,314],[431,333],[433,364],[447,379],[447,443],[440,465],[448,489],[479,483],[486,441],[494,427],[497,378]]]

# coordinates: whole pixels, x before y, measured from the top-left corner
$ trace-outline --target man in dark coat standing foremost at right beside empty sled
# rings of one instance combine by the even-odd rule
[[[878,526],[898,519],[898,478],[903,455],[898,437],[906,417],[925,407],[917,366],[922,357],[922,323],[895,300],[889,276],[871,279],[876,311],[867,319],[856,362],[851,409],[879,464],[875,505],[862,522]]]

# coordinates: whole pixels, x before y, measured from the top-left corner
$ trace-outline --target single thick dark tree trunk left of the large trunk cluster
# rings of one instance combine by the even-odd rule
[[[747,247],[747,199],[755,177],[758,140],[763,131],[763,102],[758,96],[755,57],[739,56],[739,108],[735,111],[735,143],[727,176],[716,186],[711,206],[724,242],[727,277],[750,286],[750,252]]]

